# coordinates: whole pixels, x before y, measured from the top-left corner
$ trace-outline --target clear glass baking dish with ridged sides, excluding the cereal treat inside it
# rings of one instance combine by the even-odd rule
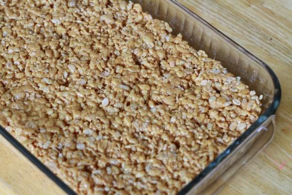
[[[261,60],[237,43],[227,38],[198,15],[175,0],[132,0],[140,3],[153,18],[167,21],[173,34],[181,33],[183,39],[196,50],[204,50],[210,58],[219,60],[227,70],[249,85],[250,90],[262,94],[262,113],[251,127],[237,138],[221,155],[217,156],[200,175],[185,185],[178,193],[214,194],[234,176],[238,169],[260,153],[274,137],[275,112],[281,98],[281,88],[274,72]],[[44,164],[25,149],[0,126],[0,134],[12,143],[64,192],[73,190],[55,176]]]

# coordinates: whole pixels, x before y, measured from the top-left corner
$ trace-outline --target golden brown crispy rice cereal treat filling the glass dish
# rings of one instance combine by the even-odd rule
[[[175,194],[261,111],[138,4],[1,3],[0,124],[79,194]]]

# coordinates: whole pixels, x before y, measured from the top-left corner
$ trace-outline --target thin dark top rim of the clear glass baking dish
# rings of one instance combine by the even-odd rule
[[[258,59],[256,56],[251,54],[249,51],[238,45],[232,39],[228,38],[222,32],[220,32],[217,28],[213,27],[207,21],[203,20],[200,16],[190,11],[188,8],[183,6],[181,3],[176,0],[168,0],[174,3],[176,6],[182,8],[187,14],[191,15],[196,20],[199,20],[203,25],[207,26],[210,30],[217,33],[221,36],[225,41],[229,42],[229,44],[234,45],[240,50],[244,55],[249,57],[250,59],[256,61],[261,66],[263,66],[270,74],[271,78],[274,82],[274,99],[269,106],[269,108],[253,123],[240,137],[237,138],[222,154],[217,156],[213,162],[211,162],[198,176],[192,179],[183,189],[178,193],[178,195],[184,195],[189,190],[191,190],[195,185],[197,185],[207,174],[209,174],[213,169],[215,169],[233,150],[240,145],[249,135],[260,128],[264,122],[271,116],[275,115],[276,110],[280,104],[281,99],[281,87],[278,78],[276,77],[274,71],[263,61]],[[0,134],[9,141],[18,151],[26,156],[33,164],[37,166],[44,174],[46,174],[49,178],[51,178],[61,189],[64,190],[69,195],[77,195],[69,186],[67,186],[60,178],[58,178],[52,171],[50,171],[42,162],[40,162],[37,157],[33,156],[24,146],[22,146],[17,139],[15,139],[12,135],[10,135],[2,126],[0,126]]]

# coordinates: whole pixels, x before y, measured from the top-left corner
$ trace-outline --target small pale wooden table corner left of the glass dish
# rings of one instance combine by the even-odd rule
[[[63,191],[0,136],[0,195],[64,195]]]

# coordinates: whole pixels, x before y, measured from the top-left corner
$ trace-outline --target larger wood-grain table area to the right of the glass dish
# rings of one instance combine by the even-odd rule
[[[180,2],[267,63],[282,88],[273,142],[220,195],[292,194],[292,1]]]

